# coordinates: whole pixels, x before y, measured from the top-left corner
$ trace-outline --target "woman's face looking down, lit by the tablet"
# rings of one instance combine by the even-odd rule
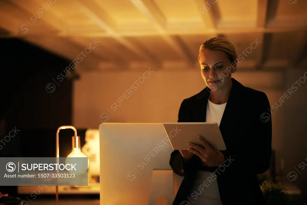
[[[235,64],[220,50],[201,51],[199,56],[201,75],[208,88],[225,89],[231,85],[231,72],[235,71]],[[232,65],[232,67],[231,67]]]

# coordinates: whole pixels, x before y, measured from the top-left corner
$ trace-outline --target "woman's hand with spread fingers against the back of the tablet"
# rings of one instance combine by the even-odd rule
[[[210,147],[210,145],[204,140],[203,137],[199,136],[198,138],[200,139],[201,143],[204,145],[204,148],[196,144],[189,143],[188,145],[191,148],[189,148],[188,151],[199,156],[200,159],[202,159],[203,162],[205,162],[209,166],[222,165],[224,162],[224,155],[222,154],[222,152]]]

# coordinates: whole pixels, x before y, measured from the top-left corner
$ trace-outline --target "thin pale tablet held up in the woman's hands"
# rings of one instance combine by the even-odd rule
[[[217,123],[177,122],[163,123],[165,132],[174,150],[187,150],[189,142],[203,147],[198,136],[202,136],[216,150],[226,150],[226,146]]]

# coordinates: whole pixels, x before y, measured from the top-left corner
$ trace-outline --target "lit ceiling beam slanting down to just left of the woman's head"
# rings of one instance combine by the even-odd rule
[[[157,30],[163,41],[165,41],[180,57],[183,57],[189,66],[194,66],[196,61],[191,58],[191,51],[187,46],[184,46],[183,41],[178,41],[178,38],[171,37],[166,32],[167,21],[160,8],[154,1],[138,0],[134,6],[142,13]]]

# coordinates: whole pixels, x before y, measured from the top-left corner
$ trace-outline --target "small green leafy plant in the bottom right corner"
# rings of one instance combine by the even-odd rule
[[[270,181],[262,182],[260,187],[266,201],[266,205],[293,205],[291,199],[292,197],[286,192],[286,187]]]

